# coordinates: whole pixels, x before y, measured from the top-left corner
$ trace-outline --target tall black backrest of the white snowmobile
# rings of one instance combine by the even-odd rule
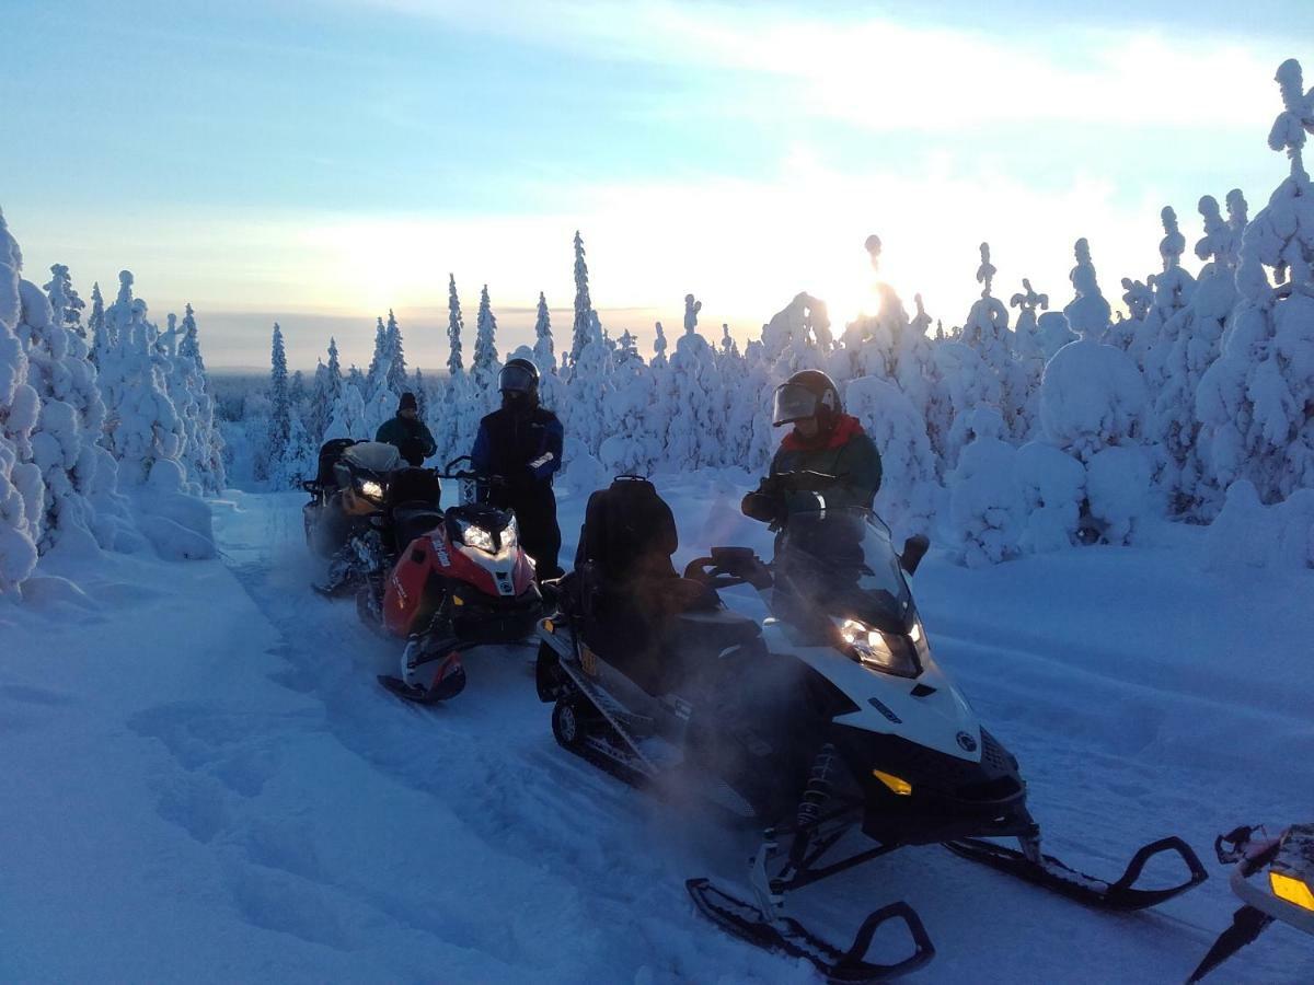
[[[636,575],[674,575],[675,516],[646,479],[619,478],[589,496],[576,567],[591,563],[612,586]]]

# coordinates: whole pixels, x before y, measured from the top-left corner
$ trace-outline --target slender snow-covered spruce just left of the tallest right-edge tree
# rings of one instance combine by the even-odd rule
[[[1172,345],[1163,353],[1154,394],[1151,435],[1158,460],[1155,481],[1173,515],[1198,519],[1213,515],[1222,502],[1217,495],[1201,510],[1200,479],[1208,449],[1201,448],[1196,419],[1196,391],[1205,370],[1218,359],[1219,341],[1229,313],[1236,305],[1236,255],[1240,244],[1227,226],[1213,196],[1200,200],[1205,235],[1196,243],[1196,255],[1206,260],[1187,306],[1164,328]]]

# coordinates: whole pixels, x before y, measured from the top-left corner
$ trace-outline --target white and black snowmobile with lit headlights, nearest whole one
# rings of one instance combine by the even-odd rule
[[[943,843],[1112,910],[1206,879],[1180,838],[1144,846],[1117,880],[1042,852],[1017,760],[932,654],[905,578],[928,546],[912,537],[899,553],[869,511],[817,508],[788,515],[771,563],[712,548],[681,577],[670,508],[650,483],[622,477],[590,498],[576,571],[539,626],[537,691],[553,704],[557,742],[623,780],[692,789],[765,829],[750,900],[708,879],[689,880],[689,893],[728,932],[805,957],[832,981],[895,977],[934,947],[907,902],[871,913],[840,948],[786,915],[786,894],[904,846]],[[765,602],[761,625],[721,603],[717,591],[738,584]],[[857,835],[867,841],[837,856]],[[1187,880],[1139,888],[1164,852],[1181,858]],[[891,964],[867,956],[887,923],[912,946]]]

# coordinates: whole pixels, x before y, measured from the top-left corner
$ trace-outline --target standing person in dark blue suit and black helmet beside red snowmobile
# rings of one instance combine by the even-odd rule
[[[515,512],[520,544],[533,558],[539,580],[560,578],[561,528],[552,477],[561,469],[562,428],[539,406],[539,369],[512,359],[498,376],[502,408],[480,422],[470,458],[474,471],[499,481],[481,483],[486,502]]]

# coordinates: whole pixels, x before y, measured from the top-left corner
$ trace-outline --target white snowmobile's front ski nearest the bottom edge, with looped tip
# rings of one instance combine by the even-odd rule
[[[921,968],[936,956],[930,936],[917,917],[917,911],[905,902],[890,904],[876,910],[862,922],[848,951],[821,940],[802,923],[790,917],[769,921],[762,911],[717,889],[706,879],[690,879],[685,883],[694,904],[704,917],[721,930],[737,938],[757,944],[767,951],[777,951],[791,957],[805,957],[830,982],[862,985],[871,981],[886,981]],[[894,964],[876,964],[866,960],[867,948],[876,930],[890,921],[901,921],[912,938],[913,953]]]

